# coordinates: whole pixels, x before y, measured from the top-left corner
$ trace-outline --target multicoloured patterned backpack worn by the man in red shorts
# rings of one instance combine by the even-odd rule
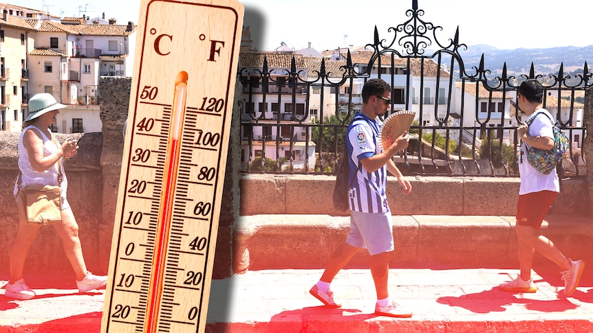
[[[538,113],[536,113],[535,116],[527,121],[527,126],[533,122],[533,119],[537,117]],[[562,156],[566,150],[568,150],[568,146],[570,145],[570,140],[564,134],[564,131],[554,124],[554,120],[548,114],[543,114],[546,115],[548,119],[550,119],[550,122],[552,122],[552,130],[554,132],[554,147],[550,150],[543,150],[533,147],[529,148],[527,150],[527,161],[529,161],[529,164],[533,168],[536,168],[537,171],[543,174],[550,174],[550,172],[552,172],[552,170],[554,170],[557,165],[561,163]]]

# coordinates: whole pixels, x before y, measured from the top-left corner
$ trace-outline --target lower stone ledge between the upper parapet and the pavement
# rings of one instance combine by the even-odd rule
[[[329,215],[241,216],[236,230],[235,273],[325,268],[348,234],[349,218]],[[518,267],[513,216],[393,216],[391,268]],[[574,260],[593,256],[593,219],[549,215],[542,233]],[[554,265],[535,257],[535,265]],[[360,251],[346,268],[368,268]],[[585,268],[587,269],[587,268]],[[588,271],[588,269],[587,269]]]

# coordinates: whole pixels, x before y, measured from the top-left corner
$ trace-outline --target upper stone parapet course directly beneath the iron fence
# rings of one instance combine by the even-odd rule
[[[241,216],[263,214],[349,215],[334,210],[335,176],[246,174],[241,177]],[[519,196],[518,178],[409,177],[412,192],[403,195],[393,177],[387,179],[387,200],[393,215],[514,216]],[[555,214],[587,216],[589,192],[585,178],[563,179],[552,205]]]

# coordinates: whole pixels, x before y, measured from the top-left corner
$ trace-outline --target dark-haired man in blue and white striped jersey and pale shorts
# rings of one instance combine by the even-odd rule
[[[409,139],[407,133],[404,133],[387,150],[382,150],[378,141],[379,128],[375,118],[384,115],[391,102],[391,87],[387,82],[381,79],[368,80],[363,87],[362,96],[360,113],[354,115],[346,132],[350,179],[356,173],[356,181],[348,194],[350,233],[341,251],[332,256],[321,279],[311,288],[310,293],[327,307],[341,307],[341,304],[334,301],[330,284],[350,258],[365,248],[371,255],[371,275],[377,292],[375,313],[389,317],[411,317],[412,312],[389,299],[389,252],[394,247],[391,211],[385,194],[387,172],[396,176],[403,194],[411,191],[409,181],[404,179],[391,160],[394,154],[407,148]]]

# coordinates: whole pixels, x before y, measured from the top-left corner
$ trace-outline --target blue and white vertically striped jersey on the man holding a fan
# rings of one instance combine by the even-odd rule
[[[379,128],[374,119],[356,113],[354,121],[346,131],[346,148],[350,157],[349,179],[354,177],[356,181],[348,191],[348,202],[350,210],[363,213],[387,213],[387,165],[383,165],[375,172],[367,172],[363,165],[357,172],[358,163],[361,159],[374,156],[381,152],[379,144]]]

